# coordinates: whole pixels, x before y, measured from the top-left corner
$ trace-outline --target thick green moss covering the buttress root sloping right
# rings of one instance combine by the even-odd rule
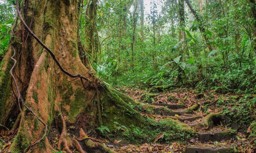
[[[139,102],[108,87],[105,89],[108,90],[107,93],[100,92],[103,93],[101,95],[104,113],[102,116],[103,126],[108,127],[111,133],[116,133],[120,139],[141,144],[145,141],[153,142],[156,135],[160,133],[164,133],[163,141],[165,142],[178,139],[181,135],[193,135],[193,129],[178,121],[160,120],[156,122],[141,115],[133,109],[141,105]],[[124,102],[124,100],[127,101]],[[126,127],[125,130],[118,128],[121,126]],[[135,132],[136,130],[137,132]]]

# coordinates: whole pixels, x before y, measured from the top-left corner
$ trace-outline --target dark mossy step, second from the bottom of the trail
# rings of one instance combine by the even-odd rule
[[[204,132],[204,133],[199,133],[196,135],[198,138],[198,141],[200,142],[209,142],[210,141],[218,141],[220,142],[221,140],[230,140],[234,138],[236,133],[234,131],[220,131],[220,132]]]

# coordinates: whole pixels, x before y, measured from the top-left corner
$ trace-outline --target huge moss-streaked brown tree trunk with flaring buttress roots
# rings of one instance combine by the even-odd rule
[[[31,32],[34,38],[28,37],[21,53],[22,46],[18,42],[26,36],[28,27],[24,28],[25,24],[19,22],[20,24],[14,28],[15,39],[12,41],[14,47],[13,49],[9,47],[1,63],[1,124],[10,127],[6,121],[21,114],[18,133],[9,149],[10,152],[30,150],[51,153],[52,150],[57,149],[53,149],[50,144],[53,123],[54,126],[59,127],[58,130],[55,129],[59,133],[58,148],[68,153],[75,148],[83,152],[84,148],[80,143],[85,143],[86,147],[90,148],[90,152],[94,152],[91,149],[95,148],[100,149],[101,152],[115,152],[87,139],[85,132],[100,126],[108,127],[112,134],[109,137],[112,140],[116,139],[113,136],[115,134],[127,141],[133,141],[129,132],[134,127],[138,127],[143,135],[136,138],[137,143],[153,142],[156,135],[162,132],[170,135],[171,139],[179,138],[181,133],[191,135],[193,130],[185,124],[173,120],[157,123],[142,116],[135,109],[148,113],[171,110],[133,101],[98,80],[90,64],[86,62],[84,65],[81,62],[78,49],[83,47],[79,47],[81,43],[78,42],[77,36],[80,10],[77,0],[42,0],[37,1],[36,5],[35,2],[36,0],[26,1],[21,11],[23,18],[29,19],[27,23],[32,19],[30,29],[36,36],[41,36],[45,46],[39,39],[35,40],[34,38],[37,37]],[[33,6],[36,8],[32,17]],[[13,65],[10,57],[14,49],[17,53],[14,58],[18,60],[18,65],[13,73],[21,96],[25,100],[24,103],[18,103],[12,93],[11,86],[14,87],[14,84],[13,81],[11,82],[9,72]],[[72,75],[77,73],[81,76]],[[17,95],[18,91],[15,87],[13,90]],[[20,104],[21,110],[18,109],[17,104]],[[47,128],[42,123],[45,123]],[[122,125],[127,127],[126,133],[117,133],[117,127]],[[69,129],[69,133],[73,136],[67,134],[68,127],[73,127]],[[80,136],[81,139],[75,139],[75,135]],[[92,135],[96,136],[98,133]]]

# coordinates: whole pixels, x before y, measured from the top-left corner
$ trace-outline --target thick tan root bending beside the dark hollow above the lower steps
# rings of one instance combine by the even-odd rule
[[[191,124],[191,127],[194,127],[199,130],[207,130],[210,127],[210,121],[212,121],[212,117],[220,115],[222,112],[218,113],[210,113],[202,118],[202,120],[198,123]]]

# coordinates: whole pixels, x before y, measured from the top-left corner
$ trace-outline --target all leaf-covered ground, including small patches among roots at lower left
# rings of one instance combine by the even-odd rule
[[[149,103],[156,106],[166,106],[175,110],[177,114],[173,115],[164,114],[163,112],[160,112],[159,114],[148,114],[141,112],[141,114],[146,115],[156,121],[159,121],[163,118],[172,118],[186,123],[195,129],[195,135],[188,138],[183,135],[183,138],[180,141],[164,143],[166,140],[164,141],[163,135],[159,134],[156,136],[154,143],[144,143],[142,145],[122,143],[122,140],[109,142],[109,140],[97,138],[105,146],[108,146],[116,152],[206,153],[209,151],[211,153],[215,153],[215,151],[217,151],[228,153],[227,150],[232,149],[232,151],[230,151],[231,153],[234,152],[235,149],[236,152],[253,153],[253,150],[256,149],[256,146],[252,146],[252,141],[247,139],[248,135],[250,134],[250,128],[248,128],[246,125],[243,125],[243,123],[239,123],[239,116],[236,116],[236,121],[238,121],[238,124],[240,125],[235,123],[235,121],[232,121],[232,119],[228,120],[230,124],[227,124],[225,119],[216,119],[213,121],[213,125],[207,129],[198,128],[197,126],[198,123],[202,123],[202,120],[204,120],[207,115],[211,113],[230,110],[227,111],[227,114],[230,114],[232,112],[239,113],[240,111],[243,111],[243,109],[245,109],[245,107],[242,106],[244,104],[243,98],[246,95],[235,95],[232,93],[222,94],[216,93],[215,91],[196,91],[187,88],[177,88],[173,90],[169,89],[166,91],[146,91],[140,90],[139,88],[122,87],[120,88],[120,91],[139,102]],[[248,97],[252,99],[253,97],[255,98],[255,95],[247,95],[247,98]],[[184,113],[184,110],[195,104],[198,106],[197,109],[194,109],[190,113]],[[255,112],[255,110],[253,110],[253,112]],[[251,117],[255,116],[255,114],[251,115]],[[240,116],[242,119],[246,119],[247,117]],[[230,127],[232,127],[234,130],[232,130]],[[72,129],[72,127],[68,127],[67,130],[69,131],[69,129]],[[54,135],[54,128],[52,130],[52,139],[50,140],[50,143],[52,144],[53,148],[57,149],[59,137],[58,132],[55,132]],[[55,130],[58,131],[57,129]],[[15,133],[13,135],[7,135],[6,131],[0,131],[0,143],[2,147],[0,152],[5,152],[8,150],[14,137]]]

